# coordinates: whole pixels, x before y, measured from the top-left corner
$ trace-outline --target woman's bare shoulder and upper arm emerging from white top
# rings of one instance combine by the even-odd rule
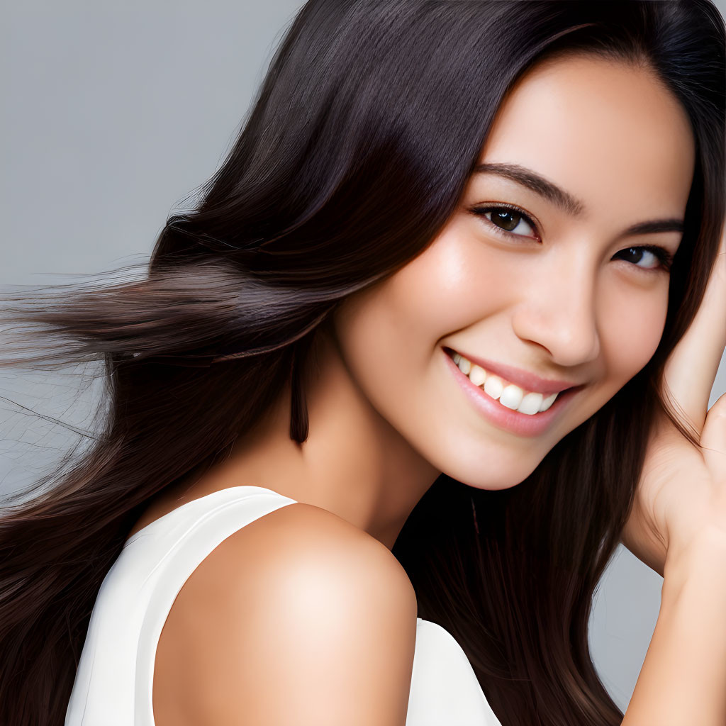
[[[403,726],[416,614],[378,540],[318,507],[282,507],[219,544],[176,597],[155,722]]]

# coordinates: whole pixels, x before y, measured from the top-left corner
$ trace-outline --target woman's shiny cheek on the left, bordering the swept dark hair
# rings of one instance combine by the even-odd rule
[[[431,428],[427,417],[441,409],[441,340],[476,319],[476,295],[481,298],[491,276],[486,264],[474,262],[461,235],[446,230],[388,280],[337,311],[335,335],[348,371],[396,428]],[[408,428],[413,438],[422,435]]]

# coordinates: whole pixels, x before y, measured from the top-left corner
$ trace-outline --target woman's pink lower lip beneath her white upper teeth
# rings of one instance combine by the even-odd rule
[[[479,386],[475,386],[469,380],[468,376],[459,370],[457,364],[454,363],[452,357],[446,351],[444,351],[444,356],[446,356],[447,365],[452,370],[454,378],[456,378],[464,393],[469,396],[479,412],[499,428],[517,433],[520,436],[537,436],[543,431],[546,431],[552,425],[552,421],[558,417],[563,407],[568,404],[568,401],[582,388],[582,386],[568,388],[567,391],[563,391],[563,393],[558,395],[555,402],[547,411],[530,416],[526,413],[514,411],[513,409],[508,409],[506,406],[502,406],[499,401],[494,400],[488,393],[484,393]]]

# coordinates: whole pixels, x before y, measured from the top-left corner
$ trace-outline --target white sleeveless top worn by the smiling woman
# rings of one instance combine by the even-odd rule
[[[238,529],[295,500],[231,486],[186,502],[130,537],[99,589],[65,726],[155,726],[156,647],[177,593]],[[417,618],[406,726],[502,726],[460,645]]]

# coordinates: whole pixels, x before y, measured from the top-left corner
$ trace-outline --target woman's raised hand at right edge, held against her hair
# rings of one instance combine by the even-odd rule
[[[670,559],[699,538],[726,544],[726,393],[708,410],[724,348],[726,224],[701,307],[664,372],[666,398],[697,432],[701,449],[658,415],[622,534],[623,544],[661,575],[666,554]]]

